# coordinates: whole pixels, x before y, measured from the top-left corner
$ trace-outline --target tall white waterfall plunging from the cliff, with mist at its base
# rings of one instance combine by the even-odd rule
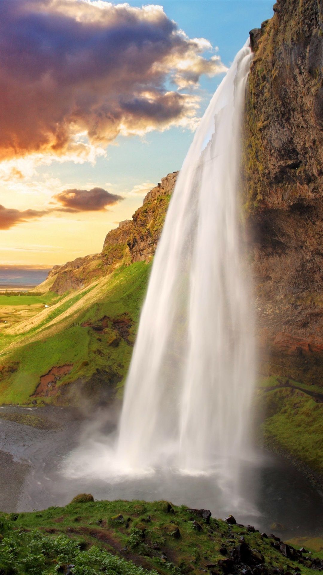
[[[250,421],[252,292],[239,204],[247,42],[184,160],[141,312],[116,432],[84,431],[63,463],[74,480],[118,484],[122,499],[171,499],[256,513]],[[122,489],[124,486],[124,489]]]

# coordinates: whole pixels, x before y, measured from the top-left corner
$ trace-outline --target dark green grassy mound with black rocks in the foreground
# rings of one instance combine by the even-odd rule
[[[319,553],[296,551],[231,520],[166,501],[82,499],[43,512],[2,513],[0,573],[287,575],[323,565]]]

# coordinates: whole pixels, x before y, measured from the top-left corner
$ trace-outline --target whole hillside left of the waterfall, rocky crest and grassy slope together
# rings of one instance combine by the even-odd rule
[[[33,293],[0,300],[0,404],[95,403],[122,387],[176,177],[107,233],[101,254],[54,266]]]

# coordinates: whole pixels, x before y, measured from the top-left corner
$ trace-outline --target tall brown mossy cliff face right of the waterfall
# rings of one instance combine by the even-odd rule
[[[322,0],[252,30],[243,152],[264,374],[323,385]]]

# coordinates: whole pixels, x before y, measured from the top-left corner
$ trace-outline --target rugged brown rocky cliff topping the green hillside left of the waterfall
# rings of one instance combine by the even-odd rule
[[[177,175],[178,172],[173,172],[162,178],[145,196],[143,206],[136,210],[132,220],[121,221],[116,229],[107,233],[100,254],[54,266],[44,283],[51,286],[52,292],[63,294],[109,274],[121,263],[149,262],[163,229]]]

